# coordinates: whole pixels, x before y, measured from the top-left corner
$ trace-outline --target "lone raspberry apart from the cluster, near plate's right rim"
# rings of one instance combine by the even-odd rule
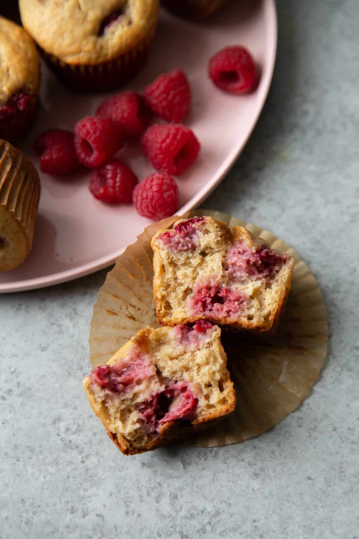
[[[214,84],[231,94],[250,92],[256,85],[256,67],[250,53],[241,45],[225,47],[208,65]]]

